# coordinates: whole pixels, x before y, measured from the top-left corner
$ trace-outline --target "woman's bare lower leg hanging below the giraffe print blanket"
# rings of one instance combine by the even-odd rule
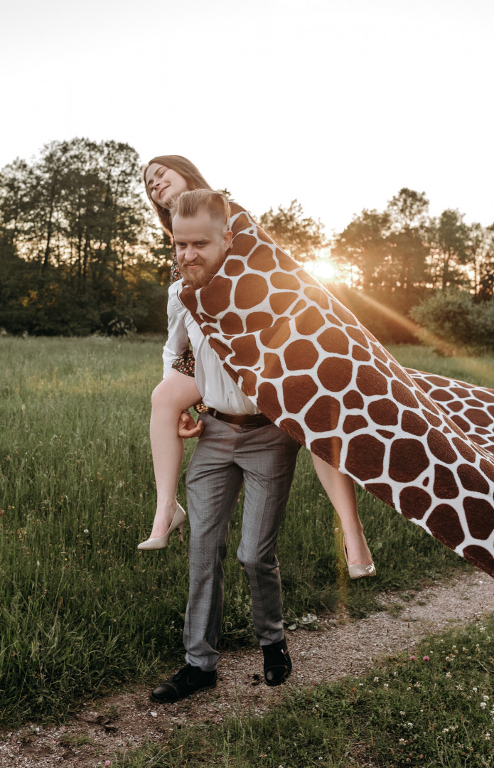
[[[341,520],[348,563],[350,565],[370,564],[372,555],[367,547],[364,528],[358,516],[354,481],[348,475],[342,475],[331,464],[323,462],[322,458],[313,453],[311,456],[321,485]]]

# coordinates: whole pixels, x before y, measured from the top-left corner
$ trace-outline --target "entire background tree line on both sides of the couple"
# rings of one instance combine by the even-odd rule
[[[390,309],[407,315],[437,290],[463,288],[473,303],[494,294],[494,224],[468,225],[450,209],[430,217],[423,192],[403,188],[386,210],[363,210],[331,239],[296,200],[258,220],[301,263],[331,247],[346,286],[330,290],[385,342],[413,340]],[[128,144],[54,141],[0,171],[8,333],[163,333],[171,257]]]

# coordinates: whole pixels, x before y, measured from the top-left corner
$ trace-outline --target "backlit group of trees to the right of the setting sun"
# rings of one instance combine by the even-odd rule
[[[494,224],[466,224],[458,210],[429,216],[423,192],[404,187],[386,210],[363,210],[338,234],[333,259],[352,286],[404,295],[462,286],[479,299],[494,290]]]

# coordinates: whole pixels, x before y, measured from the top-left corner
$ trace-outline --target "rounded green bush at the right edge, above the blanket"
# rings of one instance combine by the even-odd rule
[[[463,290],[438,291],[410,310],[426,331],[460,346],[494,349],[494,302],[476,303]],[[430,338],[426,339],[430,341]]]

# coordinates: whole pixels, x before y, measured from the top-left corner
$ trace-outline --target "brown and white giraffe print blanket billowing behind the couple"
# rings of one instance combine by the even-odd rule
[[[230,226],[222,268],[180,299],[232,379],[298,442],[494,576],[494,390],[403,369],[236,204]]]

